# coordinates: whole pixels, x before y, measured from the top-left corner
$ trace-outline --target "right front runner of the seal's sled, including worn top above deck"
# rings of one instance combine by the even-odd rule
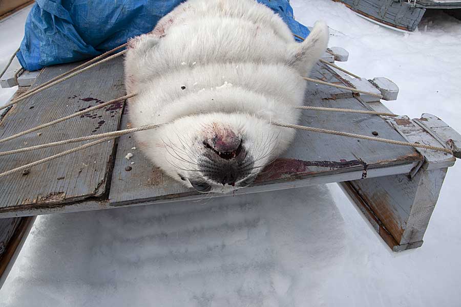
[[[408,117],[388,120],[410,142],[445,146],[430,131]],[[420,247],[437,203],[447,168],[455,158],[444,152],[419,149],[423,164],[409,174],[341,183],[373,228],[393,251]]]

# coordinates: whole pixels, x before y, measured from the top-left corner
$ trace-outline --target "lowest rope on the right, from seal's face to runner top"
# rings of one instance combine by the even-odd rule
[[[402,141],[394,141],[394,140],[389,140],[389,139],[375,138],[375,137],[363,136],[363,135],[347,133],[347,132],[342,132],[342,131],[327,130],[327,129],[322,129],[322,128],[308,127],[308,126],[283,124],[283,123],[277,123],[277,122],[272,122],[271,124],[275,126],[280,126],[280,127],[300,129],[300,130],[306,130],[306,131],[312,131],[312,132],[318,132],[318,133],[325,133],[325,134],[337,135],[337,136],[348,137],[348,138],[370,140],[370,141],[402,145],[402,146],[410,146],[410,147],[416,147],[416,148],[439,150],[439,151],[448,152],[451,155],[453,155],[452,150],[448,148],[443,148],[443,147],[436,147],[436,146],[430,146],[430,145],[425,145],[425,144],[415,144],[415,143],[402,142]]]

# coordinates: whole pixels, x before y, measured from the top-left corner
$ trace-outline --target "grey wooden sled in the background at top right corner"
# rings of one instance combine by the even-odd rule
[[[459,0],[333,0],[370,21],[403,31],[414,31],[426,9],[460,9]]]

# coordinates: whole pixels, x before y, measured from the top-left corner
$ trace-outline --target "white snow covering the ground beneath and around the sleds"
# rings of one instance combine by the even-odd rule
[[[302,23],[336,30],[329,46],[350,53],[342,67],[399,85],[393,112],[461,131],[461,21],[435,12],[404,34],[329,0],[291,3]],[[3,62],[20,41],[13,29],[0,24]],[[460,170],[448,171],[423,247],[402,253],[336,184],[39,216],[0,306],[459,306]]]

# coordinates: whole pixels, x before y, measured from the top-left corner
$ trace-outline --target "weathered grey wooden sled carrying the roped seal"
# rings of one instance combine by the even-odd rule
[[[325,54],[324,60],[347,60],[348,54],[344,49],[332,50],[333,55]],[[32,82],[32,86],[41,84],[76,65],[47,67],[38,77],[35,76],[36,79],[31,77],[27,82]],[[12,67],[2,82],[13,85],[21,82],[20,77],[11,80],[14,73],[15,68]],[[25,76],[30,76],[30,73]],[[324,63],[315,67],[312,77],[381,94],[387,100],[395,100],[398,93],[398,87],[385,78],[371,81],[351,78]],[[29,86],[19,85],[18,93],[29,89]],[[14,105],[0,120],[0,138],[118,98],[124,93],[122,59],[116,58]],[[305,105],[390,112],[374,96],[313,82],[308,82]],[[129,112],[129,105],[116,103],[2,143],[1,151],[127,128],[130,127],[126,116]],[[457,146],[461,136],[430,114],[412,120],[405,116],[304,110],[300,124],[420,142],[451,148],[458,157],[460,154]],[[0,171],[78,145],[80,143],[3,156],[0,157]],[[23,228],[27,229],[32,222],[28,216],[38,214],[146,204],[167,206],[169,202],[209,198],[209,195],[187,189],[165,176],[135,147],[134,137],[124,135],[115,142],[98,144],[22,173],[0,178],[2,225],[14,224],[17,228],[17,225],[24,224]],[[133,154],[130,160],[125,158],[129,152]],[[384,242],[393,251],[402,251],[423,244],[445,174],[454,162],[455,157],[441,151],[298,131],[283,157],[269,165],[252,186],[237,190],[235,194],[338,182]],[[5,229],[5,226],[2,227]],[[16,228],[3,235],[5,248],[0,251],[5,252],[12,246],[13,251],[10,248],[9,255],[13,255],[14,247],[20,246],[18,236],[10,234]],[[23,230],[19,235],[21,233],[24,240],[27,231]]]

